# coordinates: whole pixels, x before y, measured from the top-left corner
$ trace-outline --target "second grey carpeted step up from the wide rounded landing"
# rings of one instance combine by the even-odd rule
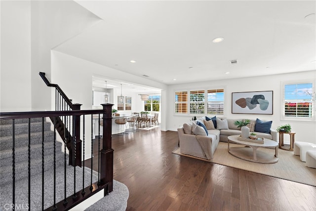
[[[56,141],[56,152],[61,151],[62,143]],[[42,145],[41,144],[34,144],[32,145],[31,149],[31,160],[39,159],[42,157]],[[29,148],[28,147],[19,147],[15,148],[15,162],[24,162],[28,161],[28,154]],[[51,155],[54,153],[54,142],[46,142],[44,143],[44,156]],[[0,153],[0,167],[4,166],[12,166],[12,150],[1,150]]]

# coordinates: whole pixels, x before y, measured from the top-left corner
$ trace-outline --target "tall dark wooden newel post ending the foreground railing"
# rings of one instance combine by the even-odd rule
[[[112,149],[112,106],[105,103],[103,106],[103,140],[100,151],[100,176],[102,184],[109,184],[104,189],[104,196],[113,191],[113,149]]]

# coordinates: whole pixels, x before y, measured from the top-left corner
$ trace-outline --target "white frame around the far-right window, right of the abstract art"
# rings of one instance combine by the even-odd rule
[[[281,82],[281,94],[280,94],[280,120],[282,121],[294,121],[294,122],[315,122],[316,121],[316,102],[312,101],[312,117],[297,117],[297,116],[285,116],[285,85],[294,84],[312,84],[312,90],[315,91],[315,82],[312,80],[298,80],[298,81],[284,81]],[[298,100],[298,99],[295,99]]]

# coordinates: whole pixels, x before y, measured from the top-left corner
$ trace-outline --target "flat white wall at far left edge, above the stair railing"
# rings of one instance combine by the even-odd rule
[[[0,110],[31,110],[31,2],[0,1]]]

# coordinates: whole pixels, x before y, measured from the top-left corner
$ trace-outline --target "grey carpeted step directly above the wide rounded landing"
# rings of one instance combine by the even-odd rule
[[[56,168],[64,166],[64,153],[56,151]],[[44,171],[53,169],[54,167],[54,155],[44,156]],[[66,161],[68,165],[68,160]],[[28,176],[28,161],[19,162],[15,164],[15,180],[20,180]],[[42,171],[42,160],[41,158],[31,160],[31,175],[41,174]],[[2,184],[12,181],[12,166],[1,167],[0,183]]]

